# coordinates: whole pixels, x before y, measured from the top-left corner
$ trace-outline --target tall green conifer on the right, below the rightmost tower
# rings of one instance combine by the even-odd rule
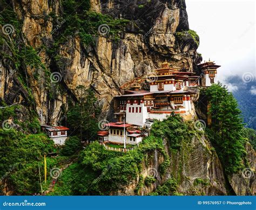
[[[245,138],[242,137],[241,111],[232,93],[220,83],[205,90],[211,108],[208,114],[212,117],[208,137],[215,147],[227,174],[237,172],[243,167],[246,156]]]

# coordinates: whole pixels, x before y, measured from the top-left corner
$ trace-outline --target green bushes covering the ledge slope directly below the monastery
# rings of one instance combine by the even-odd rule
[[[133,151],[115,152],[105,150],[99,143],[90,144],[80,153],[78,164],[63,172],[63,176],[57,183],[57,191],[51,194],[72,192],[76,195],[106,195],[124,190],[126,186],[136,183],[137,179],[138,183],[133,188],[133,193],[140,194],[144,186],[150,186],[157,181],[156,177],[142,175],[145,170],[143,167],[147,167],[152,161],[155,150],[163,158],[156,169],[159,171],[159,176],[165,176],[170,167],[170,156],[164,149],[163,139],[168,141],[170,150],[174,154],[180,150],[181,144],[189,143],[197,134],[200,134],[200,131],[193,127],[193,123],[183,122],[180,116],[173,115],[163,122],[155,121],[150,136],[144,138],[143,142]],[[177,194],[180,181],[179,177],[178,180],[174,177],[166,180],[157,188],[155,194]],[[72,186],[66,186],[66,182]]]

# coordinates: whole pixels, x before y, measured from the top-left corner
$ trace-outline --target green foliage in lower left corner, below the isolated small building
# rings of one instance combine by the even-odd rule
[[[14,129],[1,129],[0,176],[8,180],[17,194],[37,192],[38,163],[43,171],[43,155],[52,151],[53,141],[45,134],[24,135]]]

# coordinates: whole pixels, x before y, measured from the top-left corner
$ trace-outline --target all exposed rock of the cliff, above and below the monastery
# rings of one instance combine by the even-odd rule
[[[6,106],[21,105],[16,120],[29,120],[35,114],[41,123],[58,124],[68,110],[68,102],[78,100],[79,85],[95,90],[106,115],[112,97],[122,92],[121,86],[153,73],[165,60],[181,67],[181,71],[197,70],[201,60],[197,53],[199,38],[189,29],[185,1],[90,0],[89,11],[129,21],[114,36],[100,30],[92,34],[89,44],[84,43],[78,29],[69,33],[63,29],[78,14],[84,12],[86,17],[87,13],[79,8],[86,1],[77,1],[79,10],[68,17],[62,2],[1,1],[5,16],[0,18],[0,100]],[[113,35],[114,26],[103,24]],[[190,140],[178,153],[169,150],[165,142],[171,166],[165,176],[157,176],[157,184],[140,188],[140,194],[156,190],[170,177],[179,180],[178,192],[183,194],[228,194],[227,188],[237,194],[255,193],[254,179],[234,174],[227,181],[205,136]],[[248,146],[247,151],[253,166],[254,150]],[[142,174],[146,176],[153,170],[157,175],[163,157],[158,151],[147,155]],[[124,191],[113,194],[133,194],[138,181],[139,177]]]

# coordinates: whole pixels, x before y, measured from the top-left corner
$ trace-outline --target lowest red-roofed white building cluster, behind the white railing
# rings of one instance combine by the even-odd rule
[[[138,144],[142,142],[142,134],[140,130],[134,129],[134,127],[138,127],[137,125],[124,122],[111,122],[104,126],[109,128],[109,130],[98,132],[98,138],[101,142],[113,142],[119,144],[124,144],[124,141],[126,144]]]

